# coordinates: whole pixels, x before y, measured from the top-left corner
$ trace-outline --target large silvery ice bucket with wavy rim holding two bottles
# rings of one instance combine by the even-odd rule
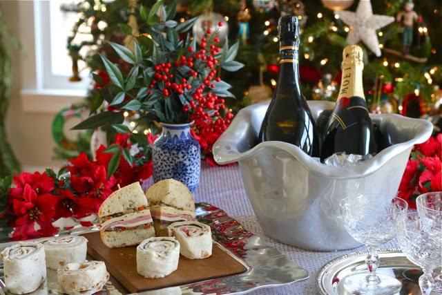
[[[333,102],[309,101],[317,121]],[[262,142],[253,146],[269,102],[243,108],[213,146],[218,164],[238,162],[242,182],[265,233],[287,245],[317,251],[361,245],[343,227],[338,204],[358,193],[396,195],[410,151],[432,133],[427,120],[371,115],[392,146],[351,168],[325,166],[298,146]]]

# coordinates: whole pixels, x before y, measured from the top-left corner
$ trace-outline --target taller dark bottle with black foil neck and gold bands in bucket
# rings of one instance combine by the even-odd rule
[[[298,146],[308,155],[319,156],[316,125],[299,82],[298,17],[286,15],[278,21],[280,71],[278,86],[262,121],[258,142],[278,140]]]

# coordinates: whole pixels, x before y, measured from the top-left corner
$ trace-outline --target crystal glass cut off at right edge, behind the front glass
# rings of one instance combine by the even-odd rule
[[[416,208],[421,218],[430,218],[442,227],[442,191],[424,193],[417,197]],[[442,267],[442,263],[439,267]],[[433,272],[432,276],[434,278],[433,291],[442,293],[442,269],[441,272]]]

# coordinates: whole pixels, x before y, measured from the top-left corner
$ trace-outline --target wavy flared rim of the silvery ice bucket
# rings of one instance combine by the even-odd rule
[[[280,149],[281,151],[287,151],[294,156],[297,160],[301,162],[305,169],[312,173],[322,174],[329,178],[337,179],[352,179],[358,178],[359,175],[370,175],[376,172],[381,166],[385,165],[388,160],[395,154],[402,153],[413,146],[414,144],[421,144],[425,142],[431,135],[433,126],[432,123],[423,119],[414,119],[410,117],[404,117],[397,114],[370,114],[373,120],[394,120],[397,121],[397,125],[401,124],[413,124],[416,128],[419,128],[419,133],[415,137],[405,142],[394,144],[393,146],[384,149],[377,155],[375,155],[371,160],[355,166],[345,169],[336,169],[332,166],[326,166],[315,160],[314,158],[306,155],[298,146],[293,144],[288,144],[286,142],[261,142],[260,144],[253,146],[252,149],[248,151],[240,152],[238,151],[238,142],[246,134],[236,133],[236,129],[240,126],[244,126],[244,123],[250,124],[247,119],[250,119],[251,114],[262,106],[267,106],[269,102],[261,102],[259,104],[253,104],[247,106],[238,112],[238,115],[233,119],[229,128],[224,131],[220,138],[213,144],[213,157],[215,162],[218,164],[229,164],[233,162],[238,162],[245,160],[247,158],[253,157],[260,150],[273,148]],[[334,102],[327,101],[309,101],[308,102],[314,117],[318,117],[318,112],[324,110],[332,110],[334,108]],[[249,135],[250,136],[250,135]]]

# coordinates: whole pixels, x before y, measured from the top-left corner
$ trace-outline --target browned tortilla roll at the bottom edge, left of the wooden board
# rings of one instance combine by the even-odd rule
[[[99,292],[109,279],[102,261],[68,263],[57,273],[58,292],[72,295],[90,295]]]

